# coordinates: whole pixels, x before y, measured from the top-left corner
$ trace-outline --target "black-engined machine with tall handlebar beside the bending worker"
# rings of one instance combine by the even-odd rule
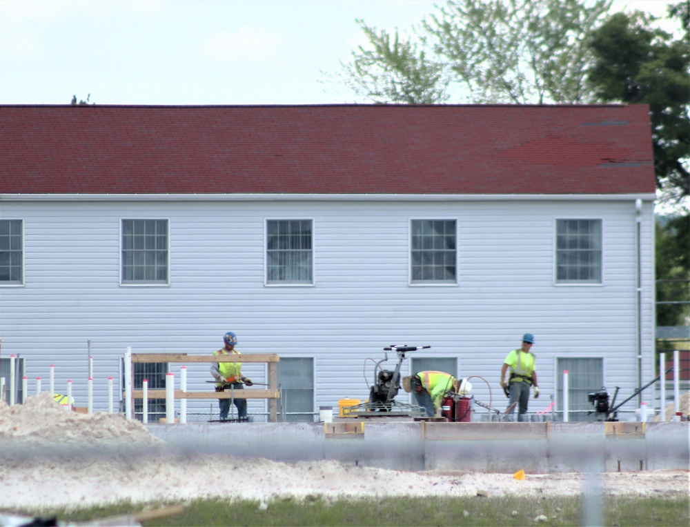
[[[395,401],[395,396],[400,390],[400,367],[406,359],[406,354],[428,348],[431,346],[395,344],[384,348],[384,351],[395,351],[395,369],[391,371],[381,367],[381,364],[388,360],[388,353],[384,354],[384,359],[374,366],[374,382],[369,389],[369,400],[355,406],[346,406],[342,410],[343,417],[426,417],[426,410],[422,406]]]

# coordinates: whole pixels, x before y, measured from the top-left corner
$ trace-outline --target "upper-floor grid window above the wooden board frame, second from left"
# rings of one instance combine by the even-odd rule
[[[122,220],[122,283],[168,284],[168,220]]]

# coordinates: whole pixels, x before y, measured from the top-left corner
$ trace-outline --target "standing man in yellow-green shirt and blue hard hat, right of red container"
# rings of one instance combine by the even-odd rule
[[[534,335],[522,335],[522,346],[519,350],[512,350],[501,368],[501,388],[508,389],[508,407],[517,401],[517,421],[524,421],[529,402],[529,388],[534,387],[534,398],[539,397],[537,386],[537,371],[534,354],[530,351],[534,344]],[[510,368],[511,375],[506,381],[506,372]]]

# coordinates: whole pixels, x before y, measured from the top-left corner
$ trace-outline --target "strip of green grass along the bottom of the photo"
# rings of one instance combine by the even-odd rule
[[[89,521],[172,506],[172,503],[131,506],[119,503],[103,508],[43,510],[42,517],[60,521]],[[195,500],[184,504],[179,515],[142,522],[154,526],[528,526],[544,515],[544,526],[582,525],[579,497],[382,498],[324,501],[319,498],[271,501],[259,510],[258,501]],[[603,516],[606,526],[687,526],[690,500],[671,498],[607,497]],[[20,511],[14,511],[15,513]],[[23,514],[34,515],[29,511]]]

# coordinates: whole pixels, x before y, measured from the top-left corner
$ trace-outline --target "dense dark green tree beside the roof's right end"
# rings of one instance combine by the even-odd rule
[[[669,12],[687,33],[687,3]],[[654,20],[616,13],[593,31],[588,82],[600,101],[649,104],[657,185],[664,201],[680,202],[690,196],[690,48]]]

